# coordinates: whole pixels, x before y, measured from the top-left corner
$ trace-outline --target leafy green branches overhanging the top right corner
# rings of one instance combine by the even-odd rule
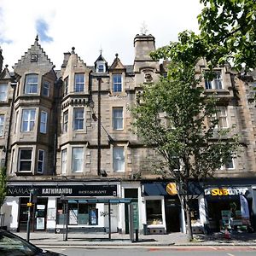
[[[213,67],[229,61],[237,70],[256,67],[255,0],[201,0],[198,16],[204,56]]]

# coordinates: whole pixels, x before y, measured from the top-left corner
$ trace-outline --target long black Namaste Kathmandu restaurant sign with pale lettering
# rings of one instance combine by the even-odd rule
[[[29,196],[31,189],[38,196],[116,196],[117,185],[10,185],[7,195]]]

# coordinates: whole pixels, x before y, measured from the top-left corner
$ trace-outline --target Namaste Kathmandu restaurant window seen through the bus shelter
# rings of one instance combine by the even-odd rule
[[[68,204],[70,225],[97,225],[98,210],[96,204],[73,202]],[[65,223],[65,207],[61,200],[57,202],[57,224]]]

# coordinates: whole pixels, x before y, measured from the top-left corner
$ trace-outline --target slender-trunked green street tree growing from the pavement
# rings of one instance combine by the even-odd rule
[[[181,46],[179,42],[172,47]],[[212,177],[238,148],[237,136],[232,134],[232,139],[227,139],[230,129],[216,129],[217,98],[205,96],[198,86],[201,78],[195,79],[195,61],[195,57],[190,61],[171,60],[167,78],[144,85],[141,104],[131,108],[133,131],[160,153],[163,176],[177,183],[189,241],[193,239],[189,181]]]

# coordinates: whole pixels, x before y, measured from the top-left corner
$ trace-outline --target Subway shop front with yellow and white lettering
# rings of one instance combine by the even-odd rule
[[[250,187],[215,186],[205,189],[209,230],[252,230],[253,195]]]

